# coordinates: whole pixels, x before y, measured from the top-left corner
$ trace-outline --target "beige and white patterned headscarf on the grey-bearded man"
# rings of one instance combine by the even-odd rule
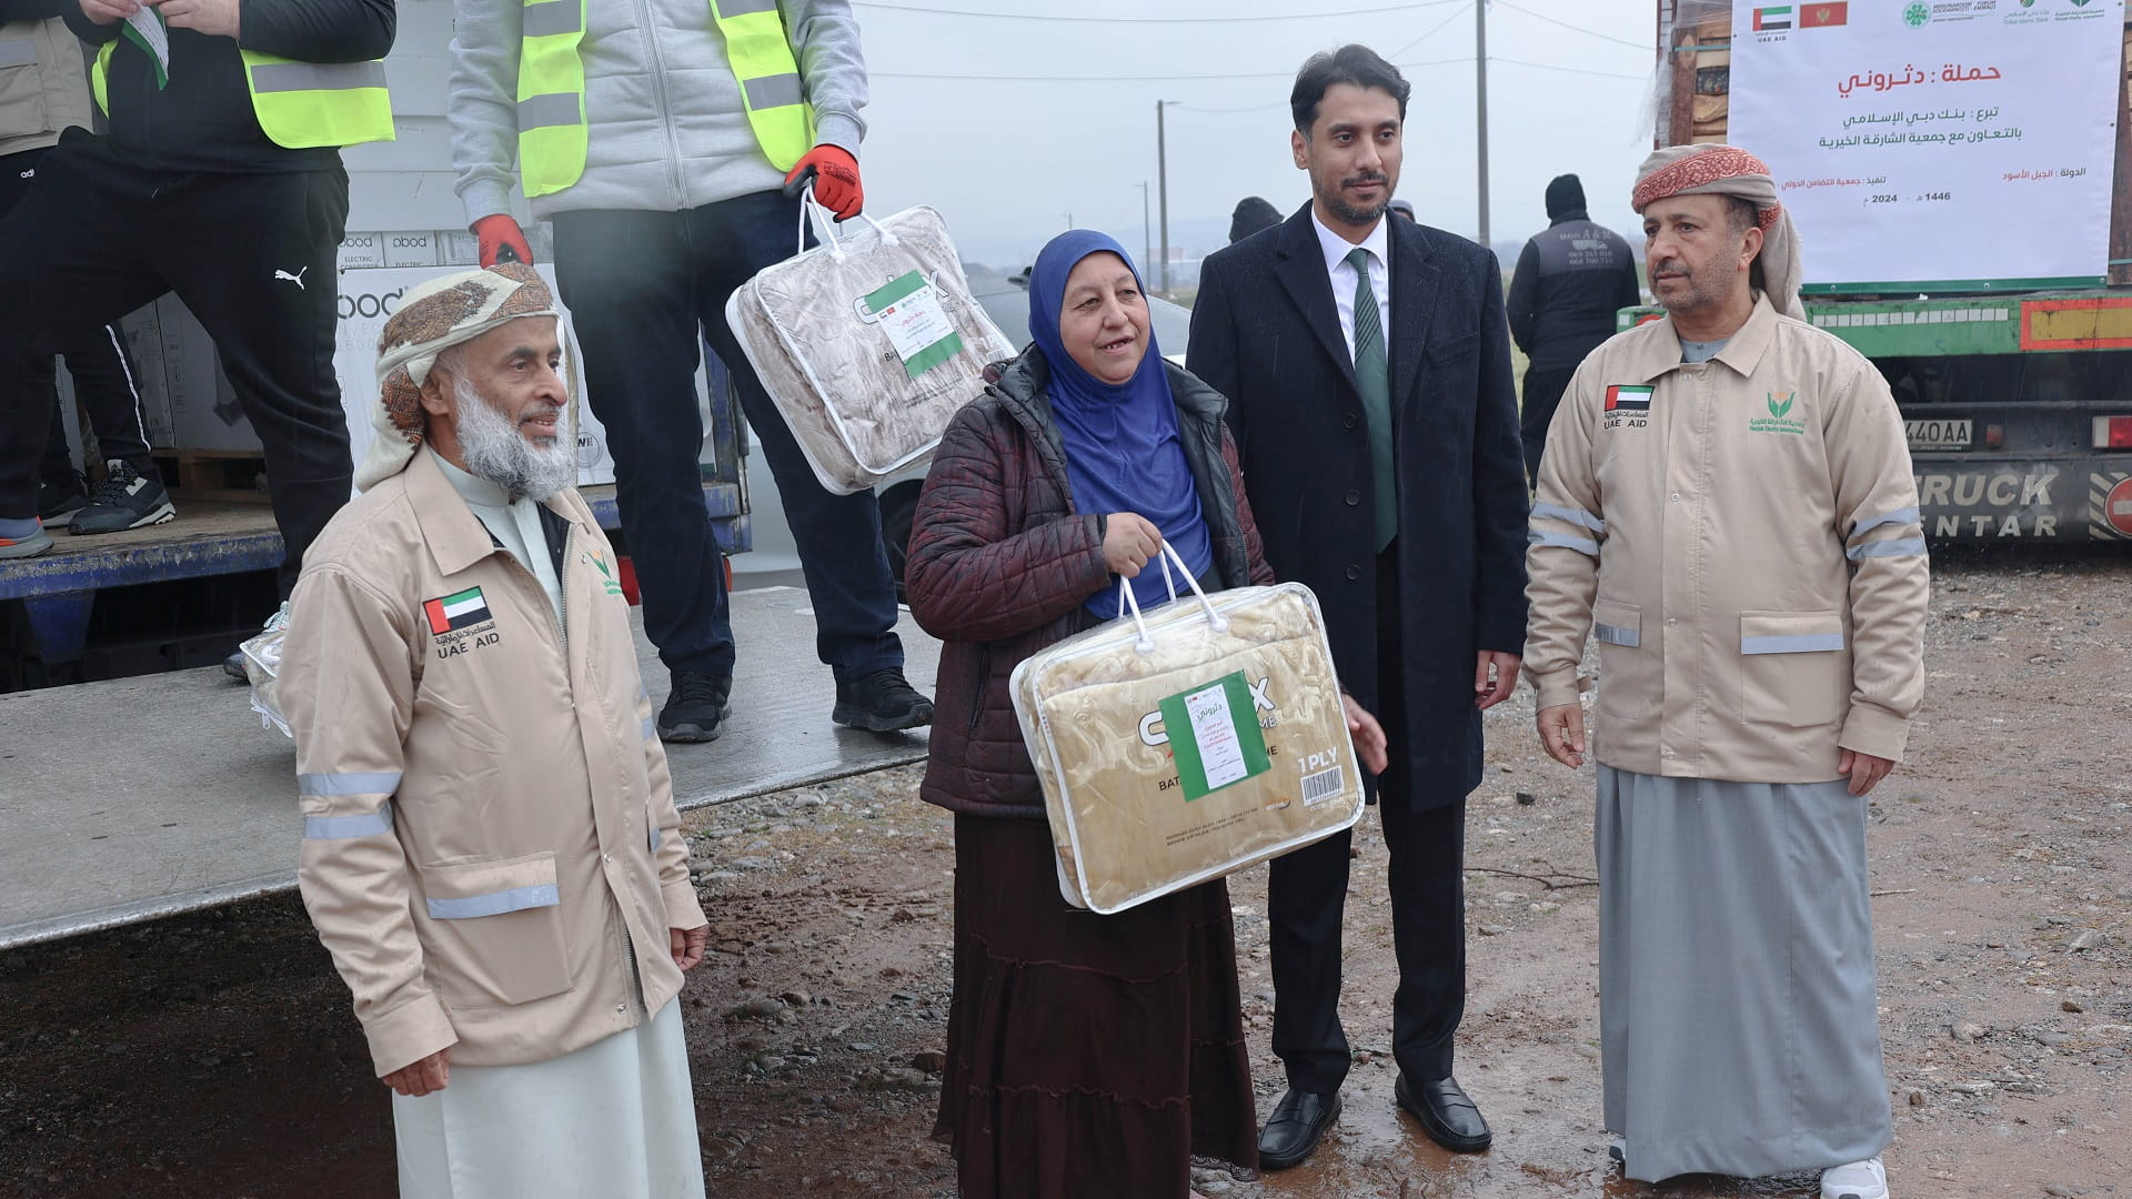
[[[561,311],[548,284],[522,262],[454,271],[407,292],[377,339],[377,407],[371,410],[377,437],[356,467],[356,491],[377,486],[414,459],[429,431],[422,382],[437,354],[527,316],[561,318]],[[567,433],[576,437],[576,412]]]

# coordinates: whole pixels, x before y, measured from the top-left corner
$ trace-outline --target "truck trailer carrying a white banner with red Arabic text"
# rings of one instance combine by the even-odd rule
[[[1932,540],[2132,542],[2128,45],[2123,0],[1659,0],[1657,145],[1770,162]]]

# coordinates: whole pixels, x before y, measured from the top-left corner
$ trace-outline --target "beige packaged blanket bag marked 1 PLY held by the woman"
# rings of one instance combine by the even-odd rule
[[[1145,614],[1119,591],[1132,619],[1030,655],[1011,681],[1066,902],[1124,911],[1362,815],[1332,646],[1307,587],[1194,585],[1194,600]]]

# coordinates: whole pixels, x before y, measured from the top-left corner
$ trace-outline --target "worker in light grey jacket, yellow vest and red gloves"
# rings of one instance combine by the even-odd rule
[[[817,653],[836,674],[831,719],[930,723],[932,700],[904,678],[874,495],[821,486],[725,324],[727,297],[797,250],[789,183],[812,179],[840,220],[863,203],[866,64],[851,4],[458,0],[454,17],[458,196],[484,267],[533,262],[512,183],[552,226],[644,632],[672,678],[659,736],[718,736],[733,681],[725,563],[697,469],[704,341],[731,371],[785,501]]]

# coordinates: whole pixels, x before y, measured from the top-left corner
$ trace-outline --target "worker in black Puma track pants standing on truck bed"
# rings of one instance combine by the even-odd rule
[[[379,60],[394,0],[41,4],[96,51],[92,85],[111,126],[64,130],[0,220],[0,540],[36,518],[51,425],[51,397],[28,386],[23,363],[175,292],[213,337],[258,435],[286,597],[305,546],[350,495],[333,373],[348,220],[339,147],[392,137]],[[222,412],[211,397],[185,407]],[[185,446],[198,433],[173,435]],[[111,471],[98,491],[107,523],[168,518],[151,474],[126,459]]]

